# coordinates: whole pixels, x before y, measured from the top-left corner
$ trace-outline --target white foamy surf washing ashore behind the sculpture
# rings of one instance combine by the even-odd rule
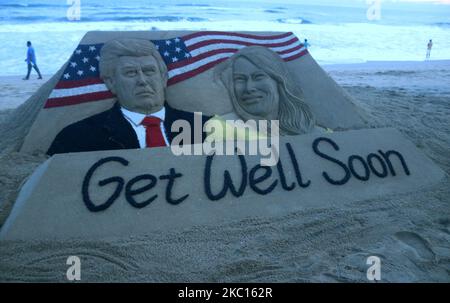
[[[379,24],[283,24],[276,21],[200,22],[62,22],[4,25],[0,28],[2,75],[25,72],[25,42],[33,41],[38,65],[46,74],[57,71],[70,57],[87,31],[218,30],[294,32],[307,38],[310,52],[319,63],[423,60],[432,38],[432,59],[448,59],[450,31],[435,26],[389,26]]]

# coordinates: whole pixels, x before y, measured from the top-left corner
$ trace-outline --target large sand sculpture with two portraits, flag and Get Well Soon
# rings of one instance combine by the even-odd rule
[[[217,46],[219,38],[238,47]],[[292,33],[90,32],[25,108],[33,123],[17,126],[23,136],[5,133],[8,144],[53,156],[23,186],[1,239],[99,239],[271,217],[444,176],[394,129],[364,129],[364,113]],[[140,126],[157,113],[157,126]],[[189,128],[230,114],[279,120],[275,165],[258,162],[261,145],[256,157],[172,153],[175,120]],[[204,139],[202,127],[188,133]]]

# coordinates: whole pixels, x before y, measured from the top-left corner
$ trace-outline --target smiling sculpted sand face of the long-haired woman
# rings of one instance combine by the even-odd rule
[[[234,62],[233,84],[243,110],[268,120],[278,118],[278,85],[266,72],[240,57]]]

